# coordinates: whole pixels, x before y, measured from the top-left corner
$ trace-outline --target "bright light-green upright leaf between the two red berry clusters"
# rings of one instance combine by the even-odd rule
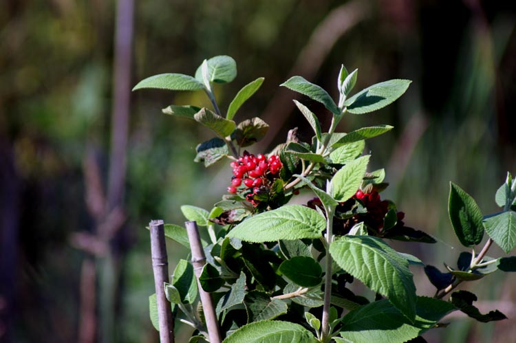
[[[354,159],[335,173],[330,195],[336,201],[346,201],[355,194],[362,184],[369,157],[370,155],[365,155]]]

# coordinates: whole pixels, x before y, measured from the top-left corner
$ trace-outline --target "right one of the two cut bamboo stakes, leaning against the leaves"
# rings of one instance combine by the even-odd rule
[[[217,314],[215,313],[211,294],[204,291],[201,283],[199,282],[202,268],[206,264],[206,255],[204,255],[204,250],[202,249],[201,237],[199,236],[197,223],[195,223],[195,221],[186,221],[184,224],[186,225],[186,233],[188,234],[188,239],[190,241],[193,271],[195,272],[195,278],[197,278],[197,286],[199,286],[199,295],[201,297],[204,318],[206,318],[208,338],[210,343],[220,343],[219,323],[217,322]]]

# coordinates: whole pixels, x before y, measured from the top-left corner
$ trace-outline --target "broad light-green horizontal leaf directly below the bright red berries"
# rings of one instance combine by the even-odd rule
[[[255,243],[281,239],[318,239],[325,228],[326,219],[315,210],[301,205],[288,205],[256,214],[239,223],[226,236]]]

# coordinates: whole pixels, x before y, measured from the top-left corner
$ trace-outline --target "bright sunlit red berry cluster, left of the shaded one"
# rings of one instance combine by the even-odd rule
[[[233,177],[231,186],[227,188],[228,192],[244,192],[246,199],[256,206],[254,195],[268,192],[268,187],[277,178],[283,164],[277,155],[267,158],[263,154],[255,156],[244,151],[244,155],[231,162],[230,166],[233,168]]]

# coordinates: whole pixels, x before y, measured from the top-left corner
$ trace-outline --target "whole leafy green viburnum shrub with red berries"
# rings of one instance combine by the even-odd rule
[[[516,245],[516,181],[510,174],[495,196],[503,210],[485,217],[473,198],[451,184],[451,225],[470,250],[460,253],[456,266],[445,265],[443,272],[389,246],[391,240],[436,242],[405,226],[405,214],[393,201],[382,199],[385,170],[367,171],[371,156],[363,155],[365,140],[392,126],[336,132],[347,115],[363,115],[394,102],[409,80],[380,82],[351,96],[357,70],[348,73],[342,66],[335,102],[321,87],[293,76],[281,86],[321,102],[332,115],[330,127],[325,131],[318,117],[294,100],[314,131],[312,140],[299,141],[294,130],[270,153],[252,155],[243,149],[264,137],[268,124],[260,118],[237,123],[235,114],[264,79],[242,88],[223,113],[213,83],[236,76],[233,58],[215,56],[204,60],[195,77],[161,74],[134,87],[204,91],[213,104],[213,109],[171,105],[163,112],[195,120],[215,133],[197,146],[196,162],[228,165],[227,194],[221,201],[211,210],[181,208],[186,219],[206,228],[210,237],[203,243],[207,263],[199,283],[215,300],[224,342],[424,342],[420,335],[442,327],[440,320],[451,311],[480,322],[506,318],[497,310],[480,313],[471,292],[452,291],[497,269],[516,270],[516,256],[486,255],[493,243],[506,253]],[[291,204],[301,189],[312,192],[313,199]],[[489,238],[479,248],[484,231]],[[181,226],[165,225],[165,234],[189,246]],[[436,287],[434,296],[416,293],[409,267],[424,268]],[[376,296],[354,294],[350,284],[356,280]],[[165,286],[177,318],[196,329],[191,342],[208,340],[191,261],[181,260]],[[150,299],[153,312],[155,297]]]

